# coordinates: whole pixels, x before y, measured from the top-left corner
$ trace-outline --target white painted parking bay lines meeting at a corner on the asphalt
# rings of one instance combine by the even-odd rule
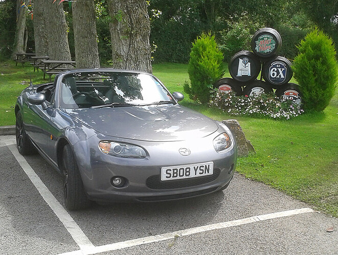
[[[28,164],[26,159],[19,154],[19,152],[16,149],[16,146],[13,145],[9,141],[5,141],[5,143],[7,144],[8,148],[11,150],[12,154],[14,155],[14,157],[16,158],[16,160],[18,161],[22,169],[26,172],[27,176],[29,177],[33,185],[39,191],[42,198],[48,203],[50,208],[53,210],[56,216],[60,219],[62,224],[65,226],[66,230],[70,233],[74,241],[80,247],[80,250],[60,253],[59,255],[97,254],[101,252],[113,251],[113,250],[138,246],[138,245],[147,244],[147,243],[155,243],[155,242],[170,240],[170,239],[174,239],[177,237],[189,236],[189,235],[207,232],[207,231],[219,230],[221,228],[239,226],[239,225],[244,225],[244,224],[249,224],[249,223],[254,223],[254,222],[259,222],[259,221],[265,221],[265,220],[276,219],[276,218],[281,218],[281,217],[288,217],[288,216],[297,215],[297,214],[315,212],[310,208],[301,208],[301,209],[295,209],[295,210],[289,210],[289,211],[283,211],[283,212],[263,214],[263,215],[253,216],[253,217],[239,219],[239,220],[193,227],[193,228],[188,228],[186,230],[175,231],[175,232],[170,232],[170,233],[165,233],[165,234],[155,235],[155,236],[148,236],[148,237],[123,241],[123,242],[117,242],[117,243],[112,243],[112,244],[107,244],[107,245],[94,246],[92,242],[87,238],[87,236],[82,232],[81,228],[74,221],[74,219],[60,205],[57,199],[48,190],[46,185],[43,184],[43,182],[40,180],[40,178],[37,176],[37,174]]]

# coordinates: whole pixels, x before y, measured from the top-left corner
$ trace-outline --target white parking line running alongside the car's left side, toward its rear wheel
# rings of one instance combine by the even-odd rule
[[[48,203],[50,208],[56,214],[56,216],[60,219],[62,224],[65,226],[66,230],[71,234],[74,241],[80,247],[81,250],[86,250],[88,248],[95,247],[92,242],[87,238],[87,236],[83,233],[81,228],[76,224],[74,219],[69,215],[69,213],[60,205],[59,201],[53,196],[53,194],[49,191],[46,185],[43,184],[39,176],[34,172],[32,167],[28,164],[26,159],[22,157],[15,145],[7,145],[14,155],[17,162],[20,164],[22,169],[25,171],[35,188],[39,191],[44,201]]]

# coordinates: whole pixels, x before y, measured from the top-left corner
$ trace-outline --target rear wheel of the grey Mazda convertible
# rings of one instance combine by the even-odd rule
[[[20,152],[21,155],[36,154],[36,148],[26,134],[24,121],[22,120],[22,115],[20,111],[16,113],[15,140],[17,150]]]

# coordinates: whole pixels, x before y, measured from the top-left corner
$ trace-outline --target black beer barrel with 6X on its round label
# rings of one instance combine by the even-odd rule
[[[291,62],[284,57],[276,57],[263,64],[262,75],[265,82],[275,89],[287,84],[292,78]]]

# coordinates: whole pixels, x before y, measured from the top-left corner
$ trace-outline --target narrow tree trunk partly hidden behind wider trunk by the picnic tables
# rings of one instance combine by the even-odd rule
[[[47,26],[44,19],[44,2],[46,0],[33,0],[34,15],[34,43],[35,54],[39,57],[48,56],[48,38],[47,38]]]

